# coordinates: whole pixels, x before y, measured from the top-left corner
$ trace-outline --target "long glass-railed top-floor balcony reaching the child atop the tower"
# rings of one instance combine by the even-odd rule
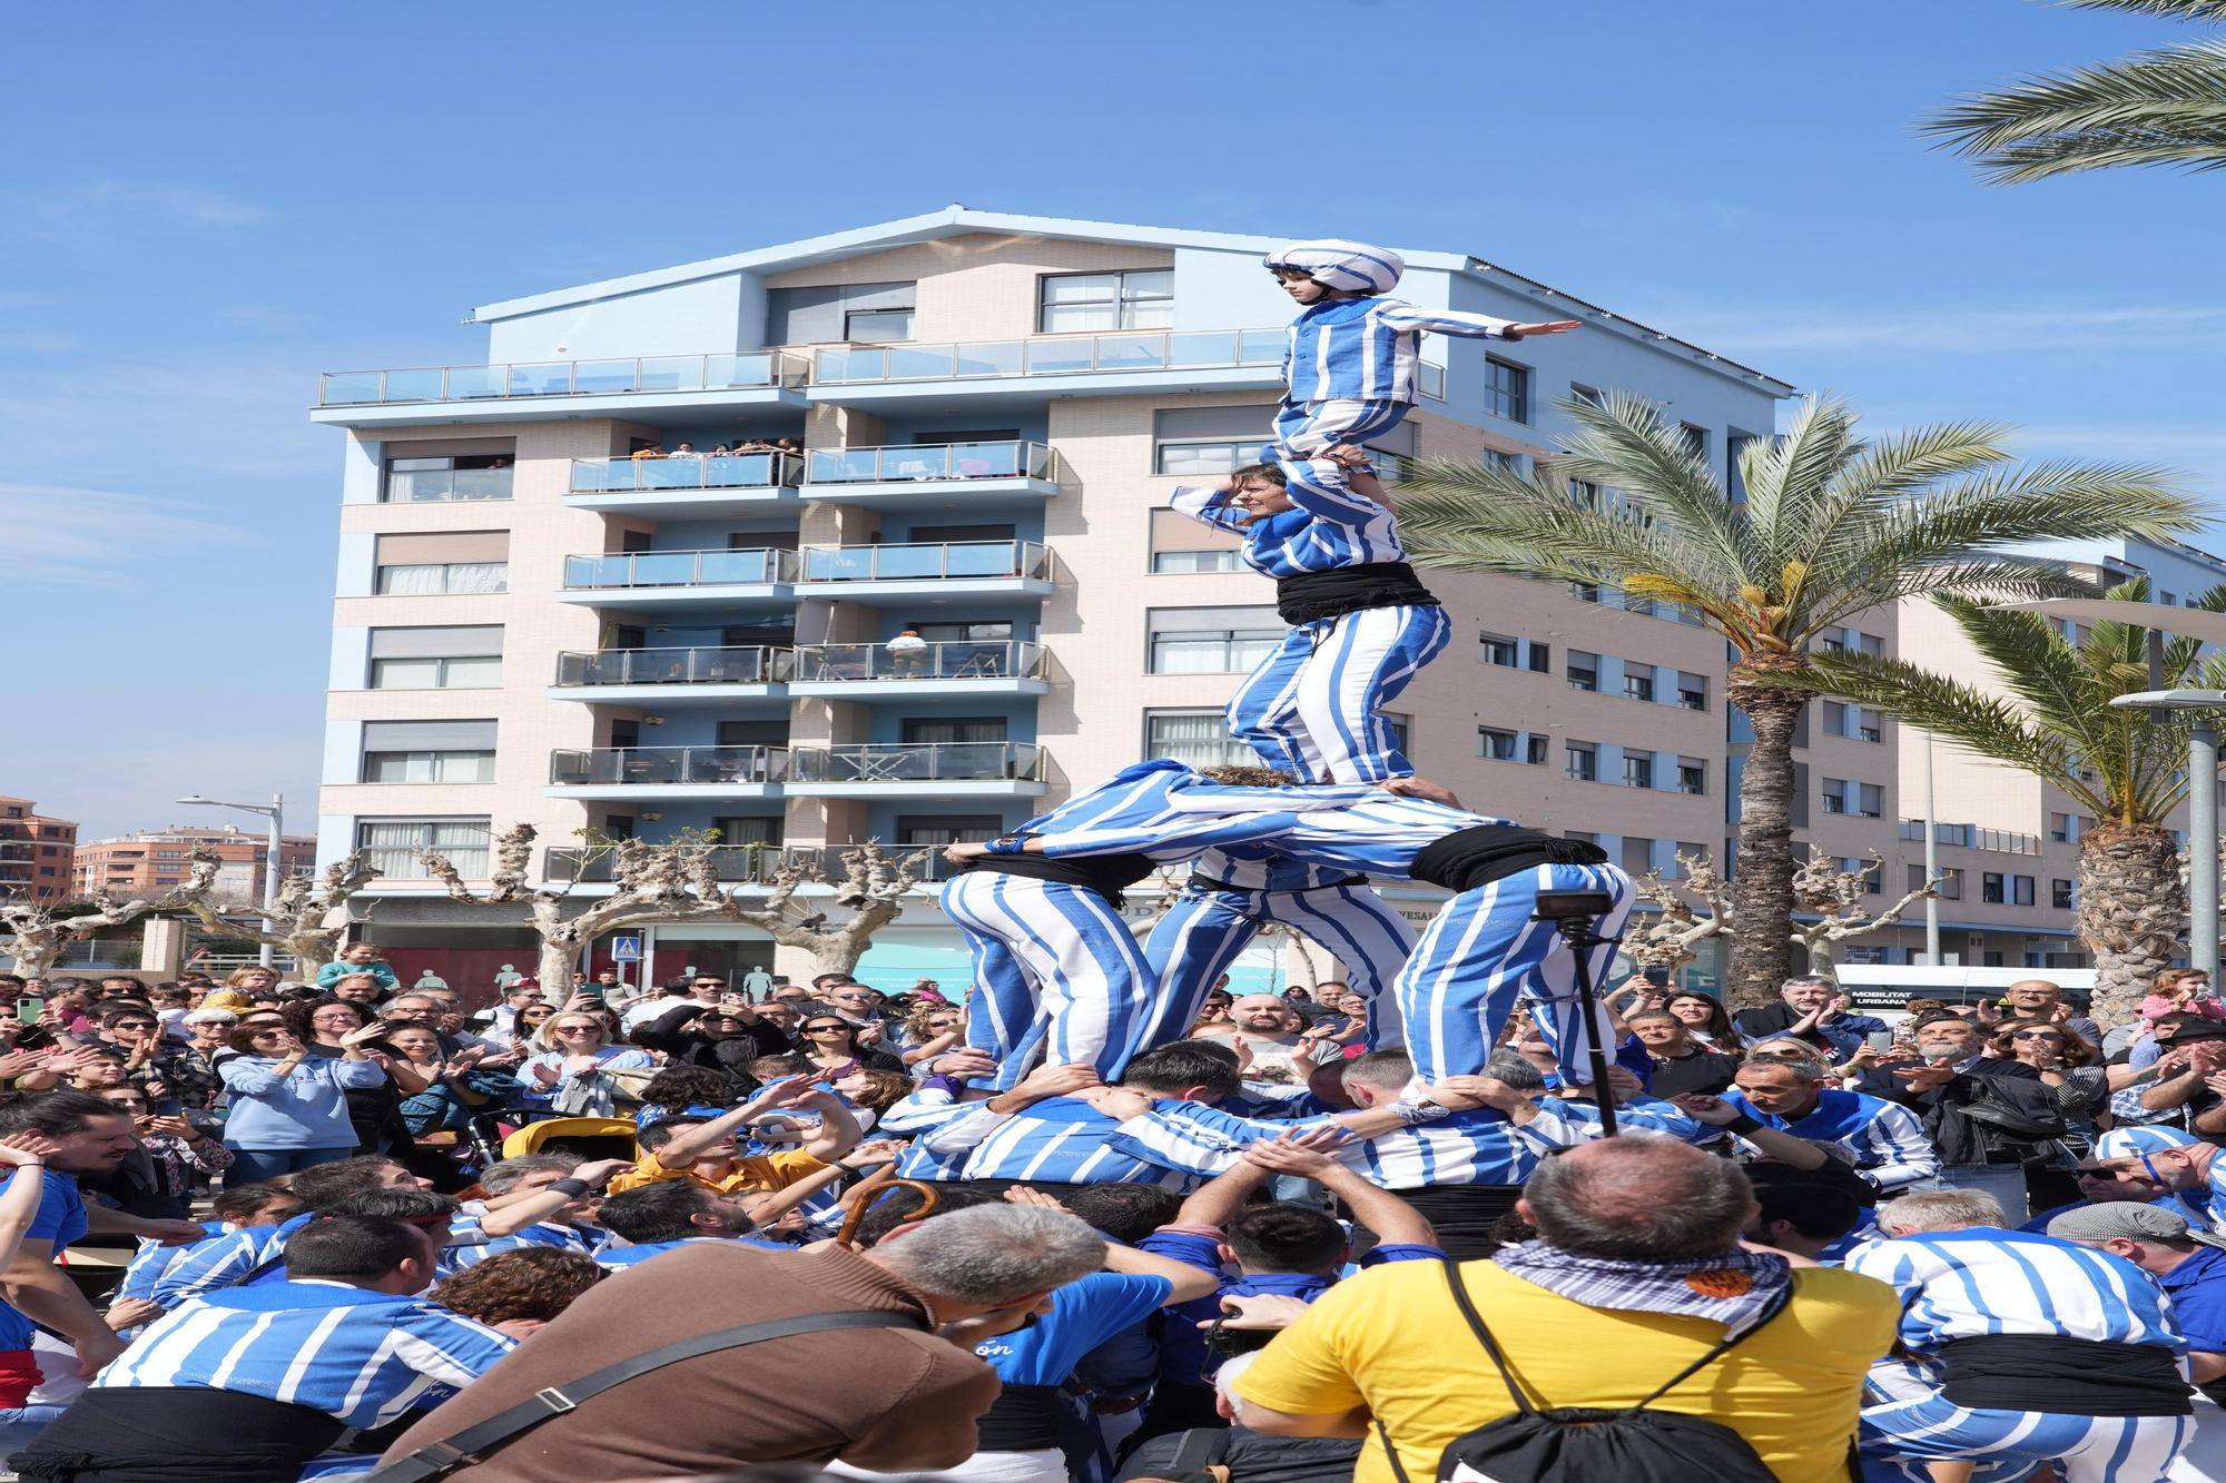
[[[812,356],[812,401],[1042,399],[1264,390],[1282,383],[1287,330],[1037,334],[953,345],[846,345]]]

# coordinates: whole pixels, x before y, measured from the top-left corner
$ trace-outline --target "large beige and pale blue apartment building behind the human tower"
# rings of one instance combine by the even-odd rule
[[[485,875],[490,826],[521,819],[539,877],[581,897],[608,891],[581,831],[708,831],[761,886],[857,839],[993,835],[1144,755],[1235,757],[1220,708],[1280,637],[1273,592],[1164,505],[1262,441],[1291,316],[1269,247],[951,207],[485,305],[479,365],[323,376],[312,416],[347,443],[318,837],[383,868],[370,935],[459,984],[514,962],[514,920],[416,855]],[[1409,301],[1583,327],[1431,336],[1387,454],[1523,461],[1556,403],[1625,387],[1730,479],[1792,390],[1487,261],[1407,261]],[[1743,737],[1721,641],[1563,586],[1431,586],[1458,641],[1398,701],[1427,775],[1634,871],[1723,855]],[[1894,623],[1845,641],[1890,648]],[[908,628],[924,650],[886,648]],[[1816,706],[1801,753],[1803,837],[1885,877],[1897,748]],[[652,978],[804,971],[746,926],[643,946]],[[922,902],[861,973],[966,966]]]

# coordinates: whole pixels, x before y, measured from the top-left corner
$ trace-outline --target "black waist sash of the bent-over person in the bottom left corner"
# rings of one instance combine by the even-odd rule
[[[51,1483],[292,1483],[347,1427],[229,1389],[87,1389],[9,1465]]]

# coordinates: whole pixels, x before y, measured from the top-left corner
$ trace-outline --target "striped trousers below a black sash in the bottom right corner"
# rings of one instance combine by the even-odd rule
[[[2059,1463],[2064,1483],[2161,1483],[2188,1425],[2186,1416],[1974,1412],[1932,1394],[1865,1405],[1856,1436],[1863,1483],[1928,1483],[1930,1459],[1974,1459],[1974,1479],[2023,1479]]]

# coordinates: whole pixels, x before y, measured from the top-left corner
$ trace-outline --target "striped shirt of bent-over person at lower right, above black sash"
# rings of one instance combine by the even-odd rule
[[[1901,1294],[1901,1347],[1934,1354],[1952,1338],[2052,1334],[2186,1354],[2170,1298],[2133,1263],[2028,1231],[1930,1231],[1854,1247],[1848,1271]]]

